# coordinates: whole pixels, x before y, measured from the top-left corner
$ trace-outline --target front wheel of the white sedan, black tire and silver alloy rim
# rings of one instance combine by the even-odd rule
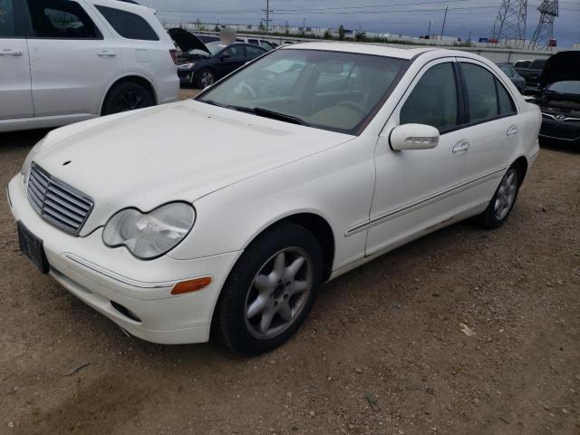
[[[285,343],[304,323],[323,282],[323,253],[294,223],[267,229],[237,260],[219,296],[212,328],[248,355]]]

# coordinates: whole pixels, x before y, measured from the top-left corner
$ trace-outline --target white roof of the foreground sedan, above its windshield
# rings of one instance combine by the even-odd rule
[[[426,53],[430,51],[445,52],[445,55],[454,55],[449,53],[455,53],[455,55],[457,54],[457,52],[451,52],[450,50],[440,50],[436,48],[394,48],[384,44],[373,43],[295,43],[291,45],[285,45],[280,48],[280,50],[325,50],[343,53],[374,54],[377,56],[397,57],[407,60],[412,59],[420,53]]]

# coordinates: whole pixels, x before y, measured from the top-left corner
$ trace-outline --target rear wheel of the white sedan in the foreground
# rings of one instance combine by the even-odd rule
[[[479,222],[483,227],[493,229],[506,222],[514,208],[521,184],[521,171],[517,165],[507,169],[499,183],[495,195],[489,201],[488,208],[479,215]]]

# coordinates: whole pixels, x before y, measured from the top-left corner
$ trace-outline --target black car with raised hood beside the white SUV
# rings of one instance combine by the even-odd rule
[[[245,63],[267,53],[265,48],[250,43],[203,43],[195,34],[179,28],[170,29],[169,35],[182,52],[178,59],[181,83],[198,88],[213,84]]]

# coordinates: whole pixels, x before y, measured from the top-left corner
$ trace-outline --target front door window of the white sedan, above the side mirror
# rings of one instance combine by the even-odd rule
[[[400,124],[410,123],[430,125],[441,133],[457,127],[457,84],[452,63],[432,66],[417,82],[401,107]]]

